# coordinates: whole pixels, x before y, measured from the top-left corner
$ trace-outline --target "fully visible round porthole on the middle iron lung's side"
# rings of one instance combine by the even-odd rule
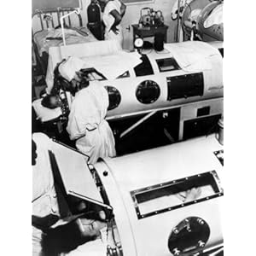
[[[157,101],[160,96],[160,87],[152,80],[145,80],[137,86],[137,100],[143,104],[150,104]]]

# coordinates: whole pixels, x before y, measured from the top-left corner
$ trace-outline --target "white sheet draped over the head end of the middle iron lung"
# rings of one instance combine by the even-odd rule
[[[78,57],[84,61],[84,68],[94,67],[108,80],[113,80],[131,67],[141,63],[136,52],[121,50],[116,40],[97,41],[87,44],[73,44],[49,48],[46,84],[49,92],[53,86],[54,68],[57,63],[68,56]]]

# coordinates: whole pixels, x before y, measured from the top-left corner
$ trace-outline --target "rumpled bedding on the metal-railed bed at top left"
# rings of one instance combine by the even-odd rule
[[[92,33],[86,28],[81,30],[65,28],[64,32],[66,44],[82,44],[97,41]],[[49,47],[63,45],[61,28],[36,32],[34,41],[38,46],[39,55],[42,56],[44,51],[47,53],[49,52]]]

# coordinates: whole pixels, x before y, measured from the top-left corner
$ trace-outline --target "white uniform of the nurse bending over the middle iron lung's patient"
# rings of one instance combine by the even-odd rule
[[[68,116],[67,132],[76,147],[90,157],[89,163],[98,158],[115,156],[113,133],[105,120],[108,109],[108,92],[97,81],[79,90],[72,102]]]

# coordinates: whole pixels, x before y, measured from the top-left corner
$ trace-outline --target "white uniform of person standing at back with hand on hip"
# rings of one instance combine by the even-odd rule
[[[114,18],[113,15],[110,14],[111,11],[117,10],[120,14],[121,11],[121,3],[119,0],[113,0],[109,1],[105,9],[103,11],[102,20],[104,22],[105,28],[105,39],[106,40],[118,40],[119,44],[122,47],[123,44],[123,33],[122,33],[122,27],[120,24],[116,26],[116,28],[119,30],[118,34],[116,35],[112,30],[111,27],[113,26]]]

